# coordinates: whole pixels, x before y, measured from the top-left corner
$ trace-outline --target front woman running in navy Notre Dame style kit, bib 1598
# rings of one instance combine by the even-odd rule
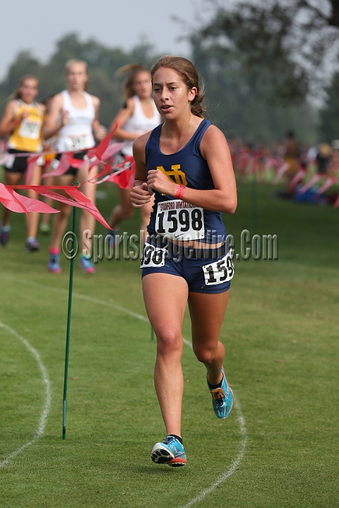
[[[154,445],[151,459],[184,466],[181,358],[187,301],[193,350],[206,366],[215,415],[226,418],[232,409],[219,335],[234,265],[221,213],[234,213],[237,189],[227,141],[203,119],[203,92],[193,64],[162,56],[151,75],[165,122],[133,144],[131,191],[134,207],[143,207],[155,194],[141,268],[145,308],[157,337],[155,389],[167,437]]]

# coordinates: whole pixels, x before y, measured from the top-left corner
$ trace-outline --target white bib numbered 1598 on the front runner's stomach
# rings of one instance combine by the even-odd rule
[[[203,238],[203,208],[182,200],[161,201],[157,204],[155,231],[172,240]]]

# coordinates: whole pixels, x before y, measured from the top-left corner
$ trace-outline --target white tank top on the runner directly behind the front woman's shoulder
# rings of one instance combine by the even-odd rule
[[[152,131],[153,128],[157,127],[159,123],[161,123],[161,116],[155,107],[153,99],[150,99],[150,102],[153,106],[152,118],[145,116],[143,108],[141,107],[140,99],[137,95],[133,96],[133,101],[134,112],[126,121],[124,126],[122,126],[124,131],[143,134],[145,131]],[[132,147],[133,141],[128,141],[127,144],[121,149],[121,152],[124,155],[133,155]]]

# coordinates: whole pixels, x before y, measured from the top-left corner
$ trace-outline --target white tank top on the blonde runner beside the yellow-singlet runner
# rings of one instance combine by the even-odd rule
[[[62,127],[57,138],[57,150],[75,151],[92,148],[95,145],[93,137],[93,121],[95,119],[95,109],[93,101],[87,92],[83,92],[83,97],[87,106],[78,109],[71,103],[69,92],[61,92],[64,100],[62,111],[69,111],[69,123]]]

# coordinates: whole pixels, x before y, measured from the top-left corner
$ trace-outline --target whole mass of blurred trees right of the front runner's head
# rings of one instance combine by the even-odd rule
[[[209,20],[189,38],[218,121],[218,100],[227,104],[225,130],[268,139],[289,126],[311,141],[316,112],[307,99],[327,98],[321,138],[339,138],[338,77],[328,89],[338,68],[339,0],[209,0],[208,7]]]

